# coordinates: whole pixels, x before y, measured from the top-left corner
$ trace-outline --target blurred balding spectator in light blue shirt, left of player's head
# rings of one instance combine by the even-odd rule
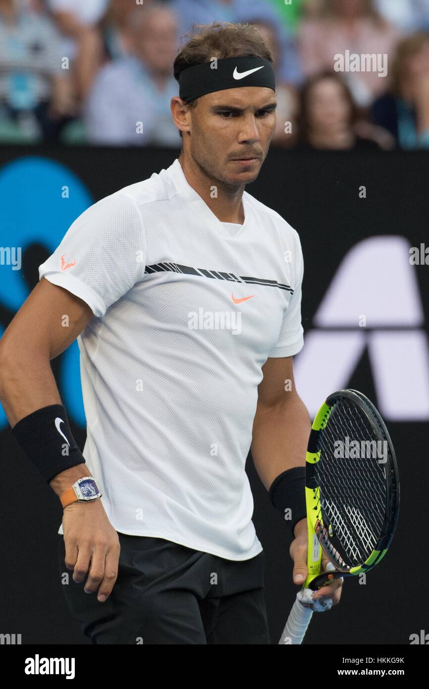
[[[170,110],[178,95],[171,69],[178,48],[176,17],[154,2],[134,8],[129,21],[133,54],[105,65],[96,77],[85,107],[88,141],[180,147]]]

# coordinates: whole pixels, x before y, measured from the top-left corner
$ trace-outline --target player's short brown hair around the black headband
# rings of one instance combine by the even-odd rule
[[[273,54],[254,24],[233,24],[229,21],[213,21],[211,24],[193,24],[191,31],[183,34],[187,43],[182,45],[173,65],[174,78],[179,81],[180,72],[193,65],[226,57],[254,55],[273,63]],[[187,101],[192,109],[198,98]],[[182,132],[180,132],[182,136]]]

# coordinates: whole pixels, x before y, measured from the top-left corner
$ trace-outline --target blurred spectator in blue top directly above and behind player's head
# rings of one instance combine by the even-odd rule
[[[277,24],[280,45],[278,79],[295,85],[302,82],[295,41],[286,26],[280,23],[278,12],[266,0],[171,0],[170,6],[176,12],[180,37],[191,30],[193,23],[249,23],[249,17],[258,17],[260,21]]]

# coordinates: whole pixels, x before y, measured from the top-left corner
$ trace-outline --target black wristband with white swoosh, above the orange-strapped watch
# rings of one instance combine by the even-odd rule
[[[12,434],[48,483],[61,471],[85,464],[62,404],[33,411],[14,425]]]

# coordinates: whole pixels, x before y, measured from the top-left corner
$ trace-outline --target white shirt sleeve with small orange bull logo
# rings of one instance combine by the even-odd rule
[[[101,317],[143,279],[145,261],[143,218],[132,198],[116,192],[74,220],[39,266],[39,280],[64,287]]]

